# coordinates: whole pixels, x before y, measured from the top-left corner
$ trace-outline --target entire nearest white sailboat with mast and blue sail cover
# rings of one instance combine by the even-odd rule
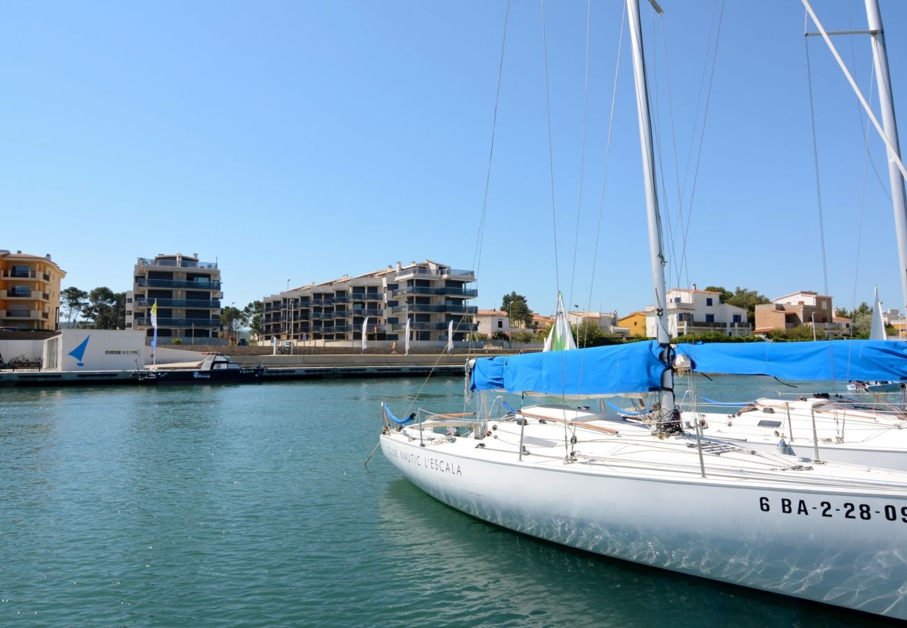
[[[638,0],[627,0],[655,302],[665,282]],[[414,485],[496,525],[640,564],[907,619],[907,474],[689,437],[657,341],[476,359],[474,413],[384,404],[380,445]],[[655,430],[585,408],[508,409],[488,392],[658,390]]]

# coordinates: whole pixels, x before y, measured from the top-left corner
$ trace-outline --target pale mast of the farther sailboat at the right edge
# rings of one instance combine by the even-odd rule
[[[898,124],[894,119],[894,98],[892,97],[892,79],[888,74],[888,54],[885,52],[885,35],[882,29],[882,15],[879,13],[878,0],[866,0],[866,20],[873,37],[873,60],[875,62],[876,83],[879,85],[879,104],[882,109],[882,125],[888,137],[888,176],[892,185],[892,205],[894,209],[894,232],[898,239],[898,258],[901,266],[898,274],[901,277],[901,294],[903,303],[907,304],[907,202],[904,198],[904,180],[898,161],[901,157],[901,144],[898,142]],[[892,159],[893,156],[898,159]]]

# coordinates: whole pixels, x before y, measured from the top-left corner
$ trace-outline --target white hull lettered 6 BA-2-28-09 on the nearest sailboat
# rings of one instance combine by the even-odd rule
[[[563,456],[530,453],[521,462],[511,446],[520,427],[496,427],[501,438],[484,438],[484,448],[471,437],[434,438],[423,447],[412,427],[383,435],[381,446],[429,495],[526,535],[907,619],[907,475],[838,466],[781,471],[753,466],[736,452],[729,466],[707,456],[716,460],[707,460],[702,478],[698,465],[682,458],[687,440],[649,436],[645,443],[631,426],[623,441],[610,437],[613,458],[580,456],[567,464]],[[557,427],[530,423],[524,430],[532,452],[547,446]],[[661,447],[677,451],[653,464]],[[577,448],[594,453],[598,446],[580,437]]]

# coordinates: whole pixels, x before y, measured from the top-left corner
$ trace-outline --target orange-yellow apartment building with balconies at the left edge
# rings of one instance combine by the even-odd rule
[[[50,253],[0,250],[0,327],[60,329],[60,281]]]

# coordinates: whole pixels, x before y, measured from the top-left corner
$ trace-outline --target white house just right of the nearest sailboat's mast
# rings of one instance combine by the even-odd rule
[[[721,293],[713,290],[672,288],[668,290],[668,336],[723,332],[728,336],[748,336],[752,328],[746,309],[722,303]],[[646,306],[646,336],[658,337],[658,315],[654,305]]]

